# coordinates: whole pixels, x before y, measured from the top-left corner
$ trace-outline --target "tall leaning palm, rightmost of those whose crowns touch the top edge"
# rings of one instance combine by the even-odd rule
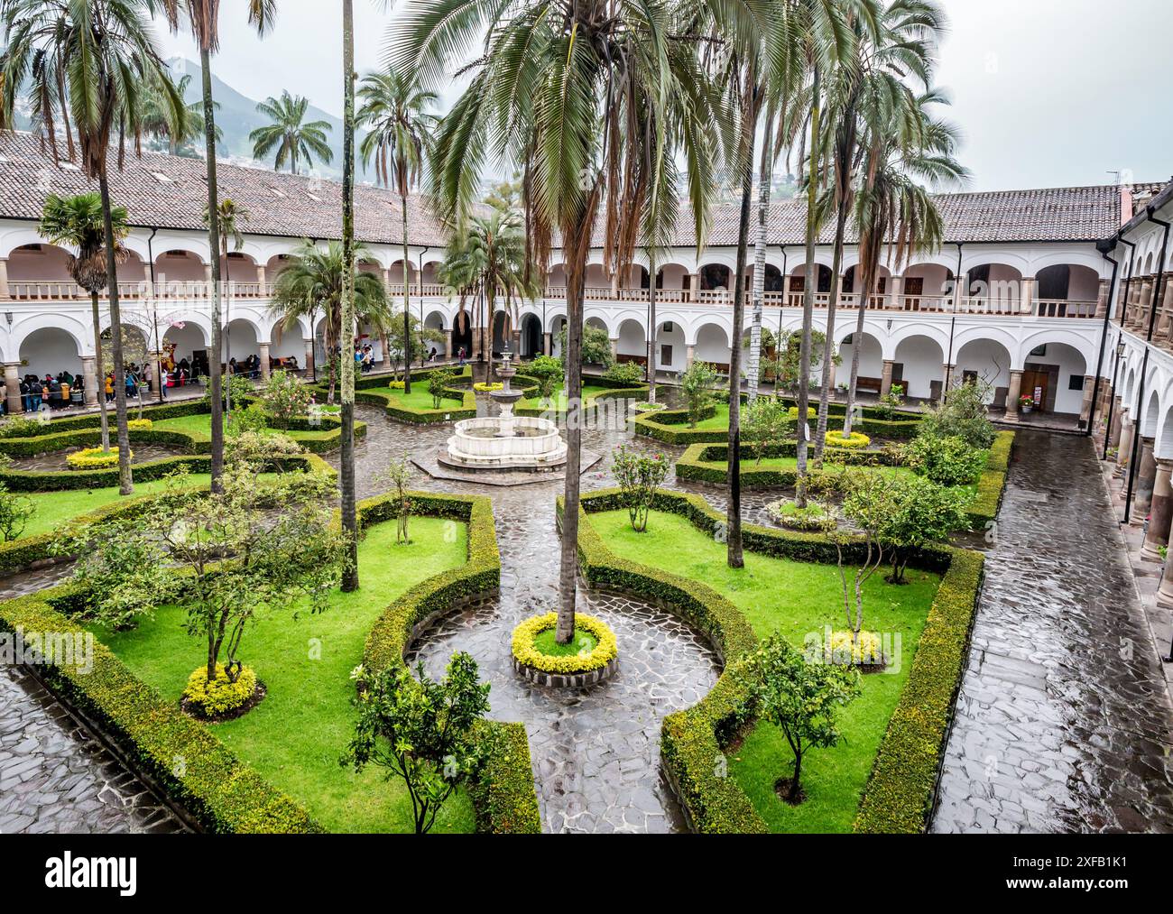
[[[835,354],[835,309],[842,277],[847,221],[855,196],[855,172],[861,164],[863,134],[861,119],[875,116],[880,109],[900,104],[910,97],[907,80],[916,80],[925,89],[933,72],[933,48],[944,28],[944,16],[933,0],[895,0],[876,11],[876,15],[852,15],[855,35],[853,60],[840,66],[828,86],[827,149],[833,176],[832,189],[822,198],[823,218],[835,215],[830,302],[827,305],[827,334],[822,352],[822,386],[819,393],[819,421],[815,431],[815,460],[822,459],[830,405],[830,375]],[[867,106],[872,111],[865,110]],[[870,287],[860,290],[867,307]]]

